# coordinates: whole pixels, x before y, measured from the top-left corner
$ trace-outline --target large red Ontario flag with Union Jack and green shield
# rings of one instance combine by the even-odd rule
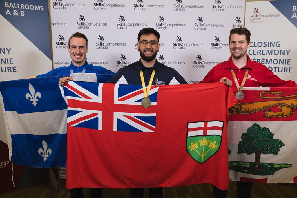
[[[71,81],[69,189],[146,188],[212,183],[228,189],[227,110],[237,102],[224,83],[152,86]]]

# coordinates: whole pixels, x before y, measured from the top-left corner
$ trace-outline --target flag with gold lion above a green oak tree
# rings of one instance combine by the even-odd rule
[[[297,88],[244,89],[244,99],[229,110],[230,180],[297,183],[296,93]]]

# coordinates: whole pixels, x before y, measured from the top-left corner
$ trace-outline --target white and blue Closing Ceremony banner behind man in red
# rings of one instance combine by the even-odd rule
[[[244,26],[251,31],[249,57],[283,80],[297,82],[296,0],[246,3]]]

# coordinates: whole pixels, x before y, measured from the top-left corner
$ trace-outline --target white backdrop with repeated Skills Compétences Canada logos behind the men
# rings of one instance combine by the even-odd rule
[[[140,58],[138,32],[160,33],[157,60],[188,83],[203,80],[229,58],[229,31],[244,26],[245,1],[232,0],[50,0],[54,68],[68,66],[68,39],[88,37],[87,61],[117,72]]]

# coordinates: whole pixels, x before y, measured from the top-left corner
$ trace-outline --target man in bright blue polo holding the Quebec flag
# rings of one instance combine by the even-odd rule
[[[69,80],[86,81],[86,82],[99,82],[96,74],[111,74],[114,72],[105,69],[101,66],[88,64],[86,61],[86,53],[88,53],[88,39],[84,34],[76,32],[73,34],[68,41],[68,52],[71,57],[71,64],[68,67],[59,67],[46,74],[38,76],[28,76],[26,78],[35,77],[48,77],[48,76],[59,76],[67,75],[66,77],[60,78],[59,83],[64,85]],[[71,198],[82,198],[82,188],[70,189]],[[90,188],[90,197],[101,197],[101,188]]]

